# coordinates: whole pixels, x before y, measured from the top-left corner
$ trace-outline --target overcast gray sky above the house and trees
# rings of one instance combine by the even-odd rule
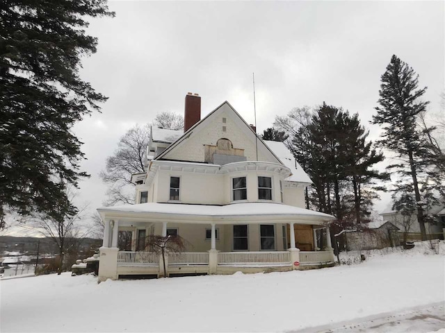
[[[393,54],[428,86],[439,111],[444,92],[444,2],[151,2],[111,1],[114,19],[91,22],[97,53],[81,76],[109,97],[102,114],[74,128],[85,143],[79,203],[102,205],[104,169],[118,139],[161,111],[184,112],[187,92],[202,96],[202,117],[229,101],[257,131],[275,115],[325,101],[359,112],[371,126],[380,76]],[[384,205],[379,204],[377,208]]]

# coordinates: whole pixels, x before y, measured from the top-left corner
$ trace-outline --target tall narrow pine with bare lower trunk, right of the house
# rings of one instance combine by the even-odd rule
[[[417,221],[421,237],[426,240],[426,228],[423,203],[419,183],[426,172],[429,160],[428,149],[423,141],[421,130],[416,126],[419,114],[425,112],[427,101],[419,101],[426,92],[426,87],[417,89],[418,78],[414,70],[396,56],[391,57],[387,70],[382,75],[380,85],[380,107],[375,108],[373,123],[382,125],[383,133],[379,144],[396,153],[400,163],[388,168],[396,170],[401,178],[410,178],[416,202]],[[403,185],[406,193],[406,186]],[[402,191],[397,189],[396,191]]]

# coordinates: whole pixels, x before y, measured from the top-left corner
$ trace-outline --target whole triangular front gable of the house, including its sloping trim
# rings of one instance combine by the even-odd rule
[[[223,123],[223,118],[226,123]],[[223,131],[223,126],[226,131]],[[216,145],[221,138],[229,139],[234,148],[244,149],[248,160],[257,160],[257,153],[260,161],[283,164],[227,101],[195,123],[157,156],[156,160],[204,162],[204,145]]]

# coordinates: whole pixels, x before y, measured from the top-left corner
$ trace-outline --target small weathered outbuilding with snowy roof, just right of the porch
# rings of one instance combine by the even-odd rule
[[[388,221],[373,221],[362,228],[343,230],[337,234],[344,250],[372,250],[401,244],[400,229]]]

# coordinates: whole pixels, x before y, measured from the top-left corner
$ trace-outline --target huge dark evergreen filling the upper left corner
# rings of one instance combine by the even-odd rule
[[[75,214],[65,183],[87,175],[72,126],[106,101],[79,77],[81,56],[97,46],[84,28],[113,15],[104,0],[1,1],[1,221],[8,210]]]

